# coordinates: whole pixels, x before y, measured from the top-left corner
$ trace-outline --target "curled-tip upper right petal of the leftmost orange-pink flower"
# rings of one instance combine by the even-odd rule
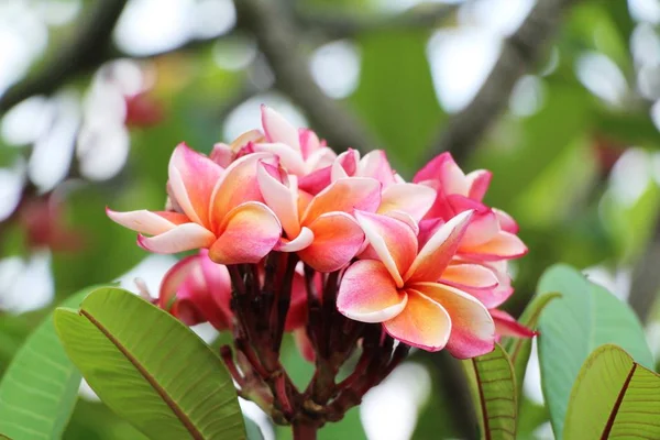
[[[218,232],[224,217],[239,205],[263,200],[256,178],[257,164],[273,160],[273,155],[267,153],[252,153],[234,161],[224,170],[210,198],[211,228],[215,232]]]

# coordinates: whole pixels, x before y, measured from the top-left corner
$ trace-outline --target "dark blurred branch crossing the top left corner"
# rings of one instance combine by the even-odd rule
[[[0,98],[0,112],[31,96],[50,95],[73,75],[100,64],[99,58],[110,44],[112,30],[127,0],[97,1],[72,41],[37,74],[18,82]]]

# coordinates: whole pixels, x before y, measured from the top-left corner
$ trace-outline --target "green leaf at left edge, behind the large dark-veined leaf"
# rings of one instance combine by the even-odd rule
[[[92,289],[63,305],[77,307]],[[53,315],[34,330],[0,382],[0,432],[21,440],[59,439],[72,416],[80,373],[69,361],[53,326]]]

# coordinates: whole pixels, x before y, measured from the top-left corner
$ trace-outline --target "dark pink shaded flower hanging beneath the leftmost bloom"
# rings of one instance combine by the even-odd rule
[[[207,250],[176,263],[163,277],[157,305],[186,326],[210,322],[232,328],[231,278],[226,266],[213,263]]]

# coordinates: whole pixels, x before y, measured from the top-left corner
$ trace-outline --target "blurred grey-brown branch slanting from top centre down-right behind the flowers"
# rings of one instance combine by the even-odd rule
[[[340,148],[361,151],[374,148],[374,141],[337,101],[315,82],[299,45],[305,37],[298,33],[290,16],[274,0],[241,0],[235,3],[239,25],[251,31],[265,55],[275,86],[288,95],[309,116],[311,123]]]

